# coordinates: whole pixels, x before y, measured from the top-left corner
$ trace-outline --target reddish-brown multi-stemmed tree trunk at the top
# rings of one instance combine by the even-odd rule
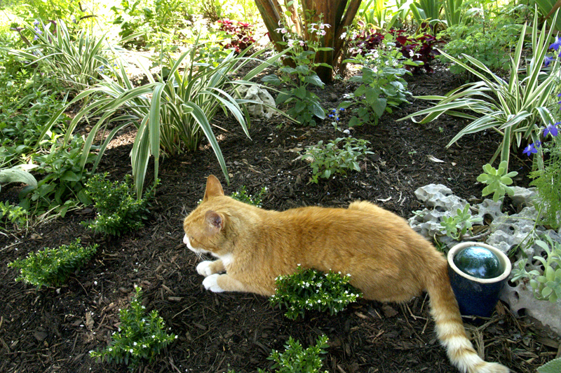
[[[344,43],[341,39],[341,35],[346,31],[346,27],[350,26],[353,22],[362,0],[301,0],[302,9],[300,11],[302,11],[302,13],[297,14],[297,9],[291,6],[290,11],[292,12],[292,16],[290,18],[285,16],[283,8],[278,1],[279,0],[255,0],[255,4],[257,4],[259,13],[261,13],[265,26],[269,31],[269,37],[271,41],[273,41],[275,48],[279,51],[283,50],[283,46],[278,44],[278,41],[283,41],[283,35],[275,31],[275,29],[279,27],[279,21],[282,21],[284,25],[290,25],[290,23],[295,24],[297,32],[302,39],[306,41],[308,29],[306,22],[319,23],[320,15],[323,15],[322,22],[330,25],[330,27],[325,28],[325,36],[323,36],[323,45],[321,46],[332,48],[332,50],[318,52],[316,55],[316,62],[325,63],[334,67]],[[312,11],[311,20],[306,20],[306,17],[304,17],[306,10]],[[302,20],[304,25],[299,25],[299,20]],[[333,70],[329,67],[322,66],[316,69],[316,73],[324,83],[331,82],[332,71]]]

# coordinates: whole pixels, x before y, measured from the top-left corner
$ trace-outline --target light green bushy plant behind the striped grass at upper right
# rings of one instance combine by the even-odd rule
[[[453,0],[446,1],[452,3]],[[469,4],[466,4],[469,6]],[[468,8],[464,10],[461,22],[452,21],[442,36],[450,39],[443,49],[452,57],[462,59],[470,55],[493,71],[507,71],[511,64],[511,50],[516,46],[520,36],[523,20],[508,6],[501,6],[501,11],[494,8]],[[443,62],[450,62],[445,55],[439,56]],[[450,65],[450,72],[466,72],[461,65]]]

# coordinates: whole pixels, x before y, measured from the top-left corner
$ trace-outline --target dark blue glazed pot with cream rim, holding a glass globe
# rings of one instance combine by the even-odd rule
[[[471,276],[454,263],[454,257],[466,247],[482,247],[491,251],[499,259],[499,276],[493,278],[478,278]],[[499,292],[511,274],[512,264],[510,259],[501,250],[491,245],[479,242],[464,242],[455,245],[448,252],[448,276],[450,284],[456,295],[462,316],[480,316],[488,318],[493,313]]]

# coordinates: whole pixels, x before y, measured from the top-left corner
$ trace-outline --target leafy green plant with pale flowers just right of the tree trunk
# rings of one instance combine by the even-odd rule
[[[405,64],[414,65],[409,60],[403,60],[403,55],[395,48],[391,35],[382,40],[382,48],[367,55],[356,57],[345,62],[351,62],[360,67],[362,74],[351,77],[349,81],[359,84],[353,93],[346,95],[350,101],[344,101],[341,107],[353,107],[354,116],[349,126],[361,126],[364,123],[377,124],[384,113],[392,113],[393,109],[407,102],[407,82],[403,79],[410,74],[404,68]]]

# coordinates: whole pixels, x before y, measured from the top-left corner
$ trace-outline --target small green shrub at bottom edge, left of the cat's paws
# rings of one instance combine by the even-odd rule
[[[92,358],[107,362],[124,363],[135,370],[143,360],[154,361],[163,348],[172,343],[177,336],[165,332],[163,318],[158,311],[147,314],[142,306],[142,289],[135,286],[135,296],[130,308],[119,309],[119,332],[114,332],[109,346],[101,351],[90,351]]]

